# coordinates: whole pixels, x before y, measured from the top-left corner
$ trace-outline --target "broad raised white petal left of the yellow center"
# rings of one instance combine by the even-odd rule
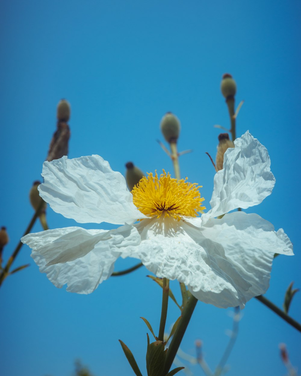
[[[51,208],[79,223],[134,223],[146,218],[133,204],[122,174],[99,155],[44,162],[40,196]]]

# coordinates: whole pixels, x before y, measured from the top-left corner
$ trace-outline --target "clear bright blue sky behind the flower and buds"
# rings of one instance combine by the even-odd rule
[[[159,124],[167,111],[181,120],[182,176],[203,185],[209,206],[215,156],[214,124],[228,126],[219,86],[223,73],[237,82],[237,135],[247,129],[271,156],[276,185],[261,205],[248,209],[283,227],[295,256],[279,256],[266,296],[281,306],[289,283],[301,287],[299,240],[300,3],[280,1],[7,1],[0,4],[0,87],[2,160],[0,225],[8,228],[5,260],[33,214],[30,186],[40,179],[52,133],[56,105],[71,103],[69,157],[99,154],[113,170],[133,161],[143,171],[172,170],[160,149]],[[47,210],[50,228],[74,226]],[[102,224],[109,229],[111,225]],[[86,228],[99,228],[87,224]],[[41,230],[35,224],[33,232]],[[118,261],[116,270],[135,264]],[[148,271],[105,281],[91,295],[55,288],[24,246],[2,301],[1,373],[8,376],[65,376],[81,358],[96,376],[132,375],[118,339],[134,353],[145,374],[146,317],[158,330],[161,291]],[[178,296],[178,285],[173,284]],[[301,320],[301,298],[290,309]],[[227,344],[231,309],[198,303],[182,342],[194,354],[201,338],[205,359],[214,368]],[[167,322],[178,317],[170,303]],[[293,365],[300,333],[253,299],[243,310],[240,332],[228,363],[229,375],[284,375],[278,344],[288,346]],[[193,368],[195,375],[202,371]]]

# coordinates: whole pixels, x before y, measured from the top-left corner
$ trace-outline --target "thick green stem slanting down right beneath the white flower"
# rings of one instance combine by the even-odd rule
[[[182,318],[179,321],[175,334],[173,335],[172,341],[170,342],[169,348],[167,350],[163,374],[167,374],[170,370],[170,367],[172,366],[173,359],[175,359],[176,353],[179,349],[182,338],[185,334],[185,331],[187,329],[187,326],[189,324],[190,318],[193,314],[193,310],[195,309],[197,302],[198,299],[196,299],[192,295],[183,309]]]

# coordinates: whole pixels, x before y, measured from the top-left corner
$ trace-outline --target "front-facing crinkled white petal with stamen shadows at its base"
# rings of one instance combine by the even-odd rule
[[[205,238],[200,229],[168,218],[135,226],[141,244],[123,249],[122,257],[139,258],[158,277],[183,282],[205,303],[222,308],[245,304],[243,292],[251,284],[225,258],[222,246]]]

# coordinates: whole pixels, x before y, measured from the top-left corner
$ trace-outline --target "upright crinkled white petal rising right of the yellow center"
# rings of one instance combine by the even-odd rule
[[[258,205],[271,194],[275,177],[270,170],[268,150],[247,131],[224,155],[223,169],[214,176],[211,209],[202,220],[237,208]]]

